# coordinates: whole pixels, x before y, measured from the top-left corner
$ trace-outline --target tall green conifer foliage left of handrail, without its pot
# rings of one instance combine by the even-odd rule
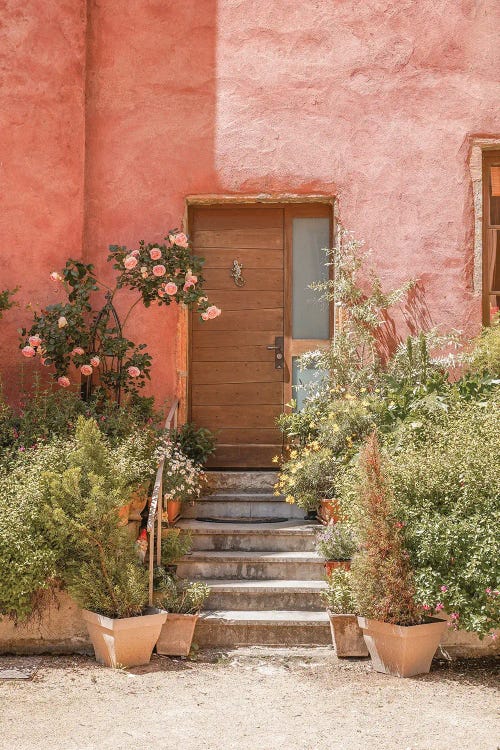
[[[141,614],[147,570],[119,526],[123,477],[94,420],[79,417],[68,468],[45,472],[42,482],[46,533],[69,593],[81,607],[108,617]]]

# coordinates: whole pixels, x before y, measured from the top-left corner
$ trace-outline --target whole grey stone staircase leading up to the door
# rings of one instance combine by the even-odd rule
[[[211,588],[196,643],[203,648],[330,644],[320,598],[323,561],[314,551],[318,525],[273,494],[275,472],[208,475],[212,494],[185,508],[177,524],[193,539],[178,575]]]

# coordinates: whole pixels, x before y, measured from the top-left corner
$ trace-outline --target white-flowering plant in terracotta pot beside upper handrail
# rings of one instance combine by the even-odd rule
[[[161,449],[165,456],[163,468],[163,500],[168,523],[179,517],[182,504],[197,500],[201,493],[204,473],[170,440]]]

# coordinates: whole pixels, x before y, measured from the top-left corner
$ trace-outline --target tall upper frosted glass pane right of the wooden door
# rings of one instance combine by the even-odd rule
[[[292,338],[329,338],[329,310],[318,292],[309,289],[313,281],[328,278],[325,266],[330,244],[329,219],[293,220]]]

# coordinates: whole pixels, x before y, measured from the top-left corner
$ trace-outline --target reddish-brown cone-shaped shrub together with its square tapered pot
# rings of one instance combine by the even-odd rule
[[[359,499],[364,510],[361,551],[353,560],[358,623],[377,672],[411,677],[430,670],[446,621],[426,617],[381,466],[376,433],[364,448]]]

